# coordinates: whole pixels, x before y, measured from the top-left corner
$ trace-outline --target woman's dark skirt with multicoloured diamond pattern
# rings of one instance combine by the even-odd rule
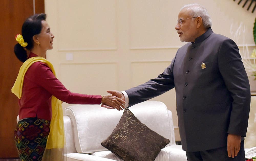
[[[38,118],[19,120],[14,131],[20,160],[42,160],[50,133],[50,121]]]

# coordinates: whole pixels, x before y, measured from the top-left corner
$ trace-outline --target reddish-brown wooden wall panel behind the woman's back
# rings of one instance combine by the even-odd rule
[[[44,12],[44,0],[37,0],[37,11]],[[18,115],[18,99],[11,93],[19,68],[22,65],[13,51],[15,36],[21,33],[26,18],[33,15],[33,0],[1,0],[0,15],[0,158],[16,158],[18,153],[14,142],[14,129]]]

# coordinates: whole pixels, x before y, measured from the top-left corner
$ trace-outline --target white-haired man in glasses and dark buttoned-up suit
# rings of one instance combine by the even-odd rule
[[[187,159],[244,160],[250,85],[237,45],[212,31],[210,16],[199,4],[181,9],[175,29],[189,43],[178,49],[162,74],[122,93],[108,92],[130,107],[175,87]]]

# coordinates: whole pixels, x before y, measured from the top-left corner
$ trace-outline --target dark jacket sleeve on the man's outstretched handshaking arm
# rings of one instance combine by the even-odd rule
[[[137,87],[125,90],[129,97],[129,107],[159,96],[175,87],[173,78],[174,60],[175,58],[172,60],[172,63],[165,68],[164,72],[158,75],[158,77],[150,79]]]

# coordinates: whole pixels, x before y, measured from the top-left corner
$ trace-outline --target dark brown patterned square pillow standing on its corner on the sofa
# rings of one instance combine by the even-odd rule
[[[150,130],[125,108],[112,134],[101,145],[125,161],[154,161],[169,139]]]

